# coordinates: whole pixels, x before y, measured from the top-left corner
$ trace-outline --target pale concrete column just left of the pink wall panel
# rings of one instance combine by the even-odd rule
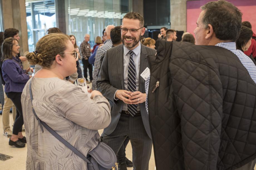
[[[171,0],[171,29],[187,31],[187,0]]]

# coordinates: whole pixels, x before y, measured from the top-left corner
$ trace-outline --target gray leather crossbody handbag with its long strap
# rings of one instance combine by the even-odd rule
[[[33,95],[31,90],[31,81],[29,83],[29,93],[30,93],[30,99],[32,104]],[[117,158],[116,158],[115,152],[105,143],[100,142],[98,146],[96,146],[92,151],[88,152],[87,157],[85,157],[80,151],[78,151],[75,147],[73,147],[70,143],[68,143],[65,139],[63,139],[59,134],[57,134],[53,129],[51,129],[45,122],[39,119],[39,117],[36,115],[36,112],[33,108],[33,104],[32,104],[32,111],[36,119],[38,120],[38,124],[42,132],[44,132],[43,130],[43,126],[44,126],[45,129],[47,129],[61,143],[63,143],[65,146],[71,149],[75,154],[77,154],[77,156],[79,156],[85,162],[87,162],[88,170],[116,169]]]

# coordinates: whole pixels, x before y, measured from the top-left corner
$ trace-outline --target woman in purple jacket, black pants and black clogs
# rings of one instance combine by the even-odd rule
[[[14,38],[6,38],[2,45],[2,65],[3,79],[6,82],[4,91],[10,98],[17,109],[15,122],[13,125],[13,135],[9,140],[9,145],[16,147],[25,147],[26,137],[22,135],[23,115],[21,107],[21,93],[26,82],[31,76],[27,70],[23,70],[21,60],[18,58],[19,53],[18,41]]]

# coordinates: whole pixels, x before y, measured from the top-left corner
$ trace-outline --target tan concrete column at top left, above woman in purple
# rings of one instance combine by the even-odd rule
[[[16,28],[19,30],[21,56],[24,55],[25,51],[28,51],[28,28],[25,2],[25,0],[2,0],[4,29]],[[28,61],[23,62],[23,66],[24,68],[29,67]]]

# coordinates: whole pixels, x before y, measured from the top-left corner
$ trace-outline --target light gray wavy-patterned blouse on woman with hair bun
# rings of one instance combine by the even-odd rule
[[[26,169],[87,169],[75,155],[44,128],[42,133],[32,112],[29,82],[21,96],[27,138]],[[110,123],[110,105],[97,95],[92,99],[82,88],[59,78],[32,78],[33,107],[38,117],[85,156],[95,148]]]

